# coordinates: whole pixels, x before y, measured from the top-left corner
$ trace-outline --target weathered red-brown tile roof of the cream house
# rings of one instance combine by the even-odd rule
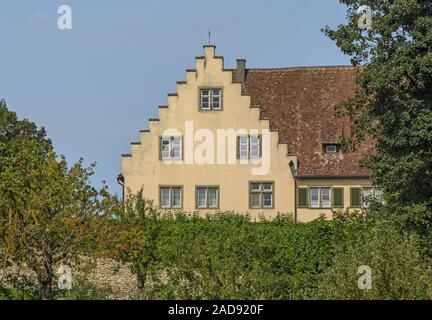
[[[349,131],[348,119],[334,116],[334,107],[353,93],[355,73],[348,66],[247,69],[244,93],[298,157],[298,176],[369,175],[358,161],[373,151],[370,140],[355,152],[328,154],[323,148]]]

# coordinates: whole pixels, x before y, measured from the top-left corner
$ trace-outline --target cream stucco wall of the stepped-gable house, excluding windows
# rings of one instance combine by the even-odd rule
[[[215,209],[201,209],[205,214],[215,210],[233,210],[248,212],[253,218],[260,214],[266,218],[274,217],[278,212],[297,212],[299,221],[310,221],[324,212],[329,217],[331,210],[295,209],[295,178],[290,169],[297,166],[295,155],[289,155],[286,144],[279,143],[277,131],[270,130],[268,119],[260,119],[260,109],[251,106],[250,97],[242,95],[241,83],[233,82],[232,70],[224,69],[222,57],[215,56],[214,46],[204,46],[204,56],[197,57],[195,69],[186,72],[186,81],[177,84],[177,92],[168,95],[168,105],[159,108],[159,118],[150,119],[148,130],[140,133],[140,141],[132,143],[131,154],[122,157],[122,175],[125,190],[137,192],[143,188],[144,196],[160,203],[161,186],[182,187],[182,209],[196,211],[196,187],[217,186],[219,188],[219,203]],[[221,88],[222,109],[203,111],[199,108],[200,88]],[[193,127],[193,129],[192,129]],[[207,129],[218,137],[218,129],[258,130],[260,133],[268,130],[268,149],[263,142],[263,153],[269,154],[270,166],[265,175],[256,175],[253,168],[257,165],[241,163],[239,159],[234,164],[218,164],[219,154],[208,156],[209,163],[186,163],[187,158],[193,160],[190,150],[200,152],[199,146],[204,139],[195,136],[195,141],[186,141],[198,129]],[[160,139],[167,130],[175,129],[183,137],[182,163],[168,164],[160,157]],[[266,131],[267,132],[267,131]],[[263,133],[263,136],[265,134]],[[229,152],[228,140],[224,147],[226,155]],[[216,144],[216,141],[215,141]],[[193,148],[192,148],[193,147]],[[198,148],[198,151],[197,151]],[[201,150],[202,151],[202,150]],[[208,152],[208,150],[207,150]],[[211,159],[214,159],[212,163]],[[210,159],[210,160],[209,160]],[[222,159],[222,158],[220,158]],[[228,162],[225,157],[225,162]],[[273,201],[271,208],[250,208],[250,182],[272,182]],[[335,180],[301,180],[302,186],[310,185],[338,185],[350,186],[369,185],[368,179],[335,179]],[[344,193],[349,197],[349,190]],[[345,199],[349,204],[349,199]]]

